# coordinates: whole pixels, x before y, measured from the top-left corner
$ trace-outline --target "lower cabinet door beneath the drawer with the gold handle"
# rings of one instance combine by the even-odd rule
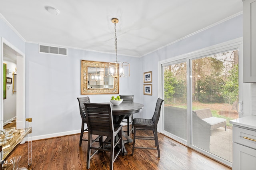
[[[255,170],[256,150],[233,143],[233,170]]]

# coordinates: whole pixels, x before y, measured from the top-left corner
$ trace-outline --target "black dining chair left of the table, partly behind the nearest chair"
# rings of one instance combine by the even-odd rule
[[[82,127],[81,127],[81,133],[80,133],[79,146],[82,146],[82,140],[88,141],[87,139],[83,139],[84,132],[88,131],[88,128],[84,128],[84,125],[86,125],[86,114],[85,114],[84,103],[90,103],[90,98],[89,97],[78,97],[77,99],[78,99],[78,103],[79,103],[80,115],[82,118]]]

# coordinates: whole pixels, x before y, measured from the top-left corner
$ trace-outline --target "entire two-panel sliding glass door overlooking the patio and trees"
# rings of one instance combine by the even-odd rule
[[[229,121],[238,118],[238,50],[165,63],[162,71],[164,132],[232,162]]]

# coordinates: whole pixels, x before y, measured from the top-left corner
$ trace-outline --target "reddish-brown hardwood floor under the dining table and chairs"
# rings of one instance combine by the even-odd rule
[[[79,147],[79,134],[37,140],[32,142],[32,170],[86,170],[87,142]],[[84,134],[87,138],[87,135]],[[162,135],[158,135],[160,154],[157,150],[135,149],[132,153],[132,143],[125,144],[128,154],[119,155],[114,162],[115,170],[230,170],[230,168]],[[144,143],[142,143],[144,142]],[[137,143],[137,140],[136,140]],[[148,143],[148,142],[147,142]],[[154,144],[154,141],[150,141]],[[145,140],[138,140],[145,145]],[[28,167],[28,144],[20,144],[9,156],[21,155],[19,167]],[[91,170],[109,169],[108,152],[99,152],[91,159]],[[12,170],[9,164],[7,170]]]

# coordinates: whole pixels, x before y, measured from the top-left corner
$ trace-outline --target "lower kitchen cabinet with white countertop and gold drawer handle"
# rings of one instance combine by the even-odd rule
[[[233,170],[256,169],[256,116],[230,121],[233,124]]]

